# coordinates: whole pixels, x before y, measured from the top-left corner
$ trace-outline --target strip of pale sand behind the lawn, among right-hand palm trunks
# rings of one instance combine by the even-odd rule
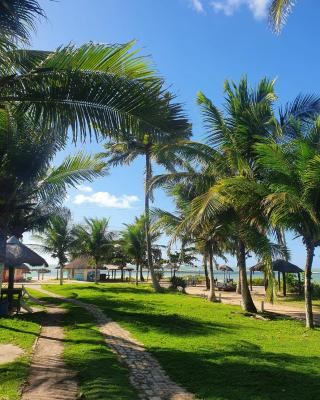
[[[207,297],[207,290],[204,286],[188,286],[186,292],[193,296]],[[235,292],[216,292],[216,296],[221,296],[221,302],[226,304],[241,304],[241,295]],[[254,286],[252,296],[254,298],[257,310],[261,309],[261,301],[264,301],[264,289],[260,286]],[[287,306],[283,304],[270,304],[264,302],[265,311],[272,312],[279,315],[284,315],[290,318],[299,319],[304,321],[305,315],[302,308],[297,308],[294,306]],[[320,324],[320,312],[314,311],[314,320],[317,324]]]

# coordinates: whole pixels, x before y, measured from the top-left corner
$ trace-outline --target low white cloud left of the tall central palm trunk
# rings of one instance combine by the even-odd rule
[[[137,196],[128,196],[124,194],[117,197],[108,192],[96,192],[90,195],[77,194],[73,199],[74,204],[92,203],[99,207],[107,208],[131,208],[132,204],[137,201],[139,201]]]

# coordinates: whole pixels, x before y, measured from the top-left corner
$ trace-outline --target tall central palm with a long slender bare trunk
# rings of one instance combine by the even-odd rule
[[[107,164],[110,166],[130,164],[137,157],[145,158],[145,185],[144,185],[144,215],[146,225],[147,260],[151,273],[152,284],[156,292],[161,290],[153,267],[151,233],[150,233],[150,199],[152,199],[152,161],[173,169],[176,164],[181,165],[183,159],[178,152],[183,148],[190,134],[187,120],[181,125],[180,130],[167,135],[161,132],[157,135],[144,134],[137,131],[134,135],[122,135],[117,141],[111,141],[105,145]]]

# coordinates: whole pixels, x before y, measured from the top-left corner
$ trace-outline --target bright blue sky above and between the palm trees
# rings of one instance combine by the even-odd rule
[[[150,55],[168,86],[185,105],[196,139],[204,139],[201,117],[195,104],[202,90],[216,104],[223,102],[225,79],[238,81],[247,74],[254,85],[264,76],[277,78],[279,105],[298,93],[319,93],[320,6],[298,2],[280,36],[269,29],[268,0],[41,0],[48,21],[38,24],[32,47],[55,49],[61,44],[88,41],[123,43],[137,40]],[[96,143],[83,148],[101,150]],[[75,151],[73,145],[57,161]],[[76,220],[110,217],[111,226],[143,212],[143,162],[115,168],[110,175],[70,190],[66,205]],[[157,207],[171,209],[161,191]],[[304,249],[290,240],[292,260],[303,265]],[[253,262],[253,261],[252,261]],[[251,263],[251,261],[250,261]],[[250,264],[249,263],[249,264]],[[318,256],[315,266],[318,265]]]

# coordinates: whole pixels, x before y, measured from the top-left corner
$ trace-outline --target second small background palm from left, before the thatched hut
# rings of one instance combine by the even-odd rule
[[[85,218],[84,224],[74,227],[74,256],[89,256],[94,261],[95,283],[98,283],[98,268],[112,258],[114,233],[109,231],[109,219]]]

